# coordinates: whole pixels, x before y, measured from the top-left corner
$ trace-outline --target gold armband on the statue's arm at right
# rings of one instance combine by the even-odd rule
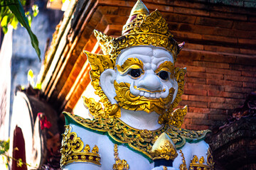
[[[191,160],[189,169],[191,170],[197,170],[197,169],[213,170],[214,169],[213,156],[211,154],[210,147],[208,148],[208,152],[207,152],[207,162],[205,163],[204,157],[201,157],[198,160],[198,157],[194,155],[193,159]]]

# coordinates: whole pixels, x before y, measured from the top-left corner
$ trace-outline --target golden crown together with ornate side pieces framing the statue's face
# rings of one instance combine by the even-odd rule
[[[181,51],[181,48],[184,45],[184,42],[181,43],[181,45],[178,45],[174,40],[173,35],[171,35],[171,32],[168,30],[166,20],[161,16],[161,13],[157,9],[156,11],[149,13],[149,10],[141,0],[138,0],[132,8],[127,23],[123,26],[122,36],[119,38],[112,38],[95,30],[95,37],[100,43],[104,55],[95,55],[86,51],[85,54],[92,67],[92,70],[90,71],[92,86],[96,90],[95,94],[100,96],[100,102],[103,103],[104,109],[102,108],[102,105],[99,102],[95,102],[93,98],[84,98],[85,106],[89,108],[90,113],[95,118],[107,118],[109,116],[118,118],[121,115],[119,109],[120,106],[118,104],[112,104],[100,86],[100,75],[105,69],[115,69],[115,62],[121,53],[121,50],[139,45],[162,47],[171,53],[175,63],[178,52]],[[172,103],[171,95],[169,98],[164,98],[163,100],[160,99],[161,101],[164,101],[164,106],[159,105],[156,109],[158,109],[157,113],[160,114],[160,124],[169,123],[170,125],[175,125],[180,128],[183,123],[183,118],[186,115],[187,108],[185,107],[176,111],[174,111],[174,108],[181,101],[186,69],[179,69],[173,65],[172,71],[172,78],[178,82],[176,98]],[[170,91],[170,94],[171,93],[174,93],[174,91]],[[153,101],[153,99],[151,100]],[[158,101],[155,100],[154,103],[157,102]],[[127,102],[125,101],[124,103]],[[122,105],[122,107],[123,106],[124,105]],[[126,106],[125,108],[133,111],[137,110],[134,106]],[[149,113],[149,109],[145,111]]]

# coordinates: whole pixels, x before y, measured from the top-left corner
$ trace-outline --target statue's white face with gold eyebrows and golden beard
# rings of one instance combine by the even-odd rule
[[[161,114],[178,91],[174,58],[160,47],[130,47],[117,58],[113,83],[112,96],[106,94],[104,88],[103,91],[108,98],[114,97],[122,108]]]

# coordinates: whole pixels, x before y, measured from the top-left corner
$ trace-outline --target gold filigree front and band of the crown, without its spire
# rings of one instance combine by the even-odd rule
[[[119,38],[111,38],[95,30],[95,37],[100,42],[100,47],[104,54],[110,55],[110,58],[115,61],[121,50],[127,47],[154,45],[156,47],[164,47],[171,52],[174,55],[174,61],[176,61],[176,56],[179,52],[178,43],[168,30],[167,23],[162,18],[161,13],[156,10],[145,18],[143,16],[138,17],[142,17],[142,23],[139,26],[132,27],[133,29],[127,35]]]

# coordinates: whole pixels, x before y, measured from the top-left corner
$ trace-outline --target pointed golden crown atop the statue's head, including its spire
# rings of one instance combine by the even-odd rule
[[[149,10],[141,0],[138,0],[132,8],[128,21],[123,26],[122,36],[112,38],[95,30],[95,37],[100,42],[103,53],[110,55],[114,61],[121,50],[137,45],[164,47],[174,56],[174,61],[181,50],[161,13],[156,9],[149,14]]]

